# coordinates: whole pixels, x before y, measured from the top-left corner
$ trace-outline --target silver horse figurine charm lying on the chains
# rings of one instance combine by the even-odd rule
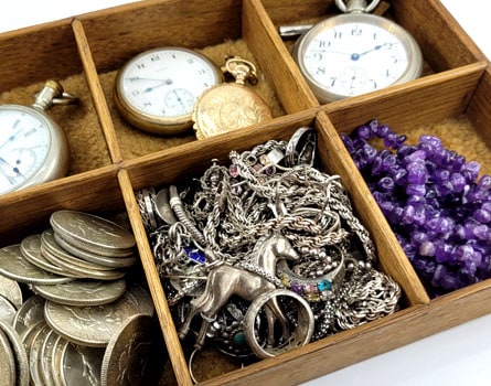
[[[215,320],[220,309],[228,302],[232,296],[235,294],[253,302],[260,294],[274,291],[277,287],[266,276],[276,277],[277,261],[279,259],[297,261],[300,258],[288,238],[280,233],[274,233],[260,238],[254,248],[254,255],[252,262],[265,275],[226,264],[220,265],[210,271],[204,291],[190,301],[189,313],[179,330],[181,339],[184,339],[188,334],[192,319],[200,313],[203,322],[196,337],[195,347],[201,349],[210,323]],[[266,305],[265,314],[268,323],[267,344],[275,344],[274,325],[276,321],[281,324],[281,336],[286,341],[289,335],[288,320],[284,315],[276,298],[268,301]]]

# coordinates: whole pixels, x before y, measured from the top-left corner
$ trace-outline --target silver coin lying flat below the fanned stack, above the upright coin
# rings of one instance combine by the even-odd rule
[[[128,318],[141,313],[130,290],[131,287],[118,300],[103,305],[75,307],[46,301],[44,318],[54,331],[75,344],[106,346]]]

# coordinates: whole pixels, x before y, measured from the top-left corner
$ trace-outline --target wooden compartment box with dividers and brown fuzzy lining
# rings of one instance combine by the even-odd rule
[[[310,126],[318,132],[322,170],[341,176],[374,239],[378,268],[402,287],[401,310],[243,368],[217,366],[220,374],[213,372],[214,360],[206,362],[203,355],[193,364],[196,378],[206,385],[295,385],[489,313],[490,280],[435,299],[428,296],[339,137],[371,119],[408,135],[436,130],[449,147],[491,172],[491,69],[485,56],[438,0],[391,0],[385,6],[384,15],[418,42],[423,76],[328,105],[317,101],[292,61],[291,42],[277,31],[334,14],[334,1],[148,0],[1,34],[1,104],[29,105],[32,93],[53,78],[76,94],[81,105],[49,112],[68,135],[70,175],[0,196],[0,247],[45,228],[56,210],[127,214],[167,346],[166,382],[190,385],[189,357],[135,192],[200,175],[211,159],[226,161],[231,150],[288,140],[297,128]],[[217,60],[227,50],[249,55],[268,87],[264,93],[271,94],[275,118],[200,141],[192,133],[162,138],[129,127],[111,100],[115,74],[130,57],[159,46],[207,53],[220,46]]]

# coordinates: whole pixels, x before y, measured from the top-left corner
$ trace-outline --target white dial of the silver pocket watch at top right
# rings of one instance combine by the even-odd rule
[[[397,81],[407,68],[407,52],[386,30],[346,23],[323,31],[306,46],[310,76],[335,94],[360,95]]]

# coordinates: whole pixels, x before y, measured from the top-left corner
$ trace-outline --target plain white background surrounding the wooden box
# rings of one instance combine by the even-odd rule
[[[2,0],[0,32],[128,2],[131,1]],[[491,40],[485,26],[490,23],[490,15],[483,10],[487,2],[482,0],[441,0],[441,2],[487,56],[491,57]],[[431,20],[428,20],[428,23],[430,22]],[[401,333],[404,333],[404,330]],[[376,342],[373,343],[376,344]],[[329,361],[329,357],[325,361]],[[490,362],[491,315],[487,315],[331,373],[306,385],[489,386],[491,385]]]

